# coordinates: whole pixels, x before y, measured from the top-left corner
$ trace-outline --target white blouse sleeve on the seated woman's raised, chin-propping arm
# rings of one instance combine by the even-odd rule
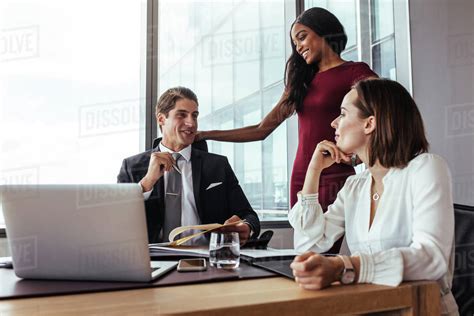
[[[319,204],[318,194],[298,193],[298,202],[288,214],[294,228],[296,251],[328,251],[344,234],[344,187],[326,213]]]

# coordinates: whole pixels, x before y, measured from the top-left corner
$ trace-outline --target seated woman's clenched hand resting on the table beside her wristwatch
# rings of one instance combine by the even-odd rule
[[[337,257],[325,257],[309,251],[296,256],[290,267],[299,286],[307,290],[321,290],[337,281],[344,270],[344,263]]]

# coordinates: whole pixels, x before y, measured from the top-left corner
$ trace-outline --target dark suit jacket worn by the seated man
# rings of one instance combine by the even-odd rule
[[[123,160],[117,177],[119,183],[138,183],[148,170],[151,153],[159,147]],[[245,219],[255,235],[260,232],[260,221],[242,191],[226,157],[193,148],[191,150],[193,190],[196,208],[202,224],[224,223],[232,215]],[[209,190],[211,183],[222,182]],[[148,240],[161,242],[164,221],[164,180],[161,177],[145,201]]]

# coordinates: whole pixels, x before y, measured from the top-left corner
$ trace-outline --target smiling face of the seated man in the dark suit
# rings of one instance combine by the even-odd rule
[[[173,151],[191,145],[196,136],[198,115],[197,103],[186,98],[177,100],[168,115],[158,113],[157,122],[163,133],[163,145]]]

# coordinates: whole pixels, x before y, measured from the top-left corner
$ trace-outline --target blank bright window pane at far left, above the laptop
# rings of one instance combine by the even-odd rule
[[[113,183],[144,150],[146,8],[0,2],[0,184]]]

